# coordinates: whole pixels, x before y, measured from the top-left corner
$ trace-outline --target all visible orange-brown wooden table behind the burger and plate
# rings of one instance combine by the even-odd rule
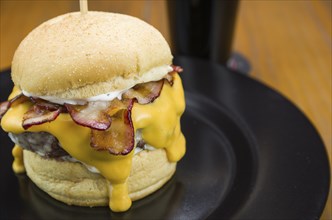
[[[9,68],[24,36],[41,22],[79,9],[78,1],[1,0],[0,68]],[[90,10],[140,17],[167,40],[164,1],[90,1]],[[242,1],[234,51],[251,63],[250,75],[278,90],[298,106],[320,133],[330,161],[331,1]],[[319,181],[319,180],[317,180]],[[331,194],[321,219],[332,219]]]

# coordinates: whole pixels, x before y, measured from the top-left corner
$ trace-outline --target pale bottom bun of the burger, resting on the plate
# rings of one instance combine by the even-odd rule
[[[109,183],[90,172],[79,162],[46,159],[24,150],[27,175],[43,191],[69,205],[108,206]],[[170,163],[165,150],[141,151],[133,157],[127,180],[129,197],[141,199],[162,187],[174,174],[176,163]]]

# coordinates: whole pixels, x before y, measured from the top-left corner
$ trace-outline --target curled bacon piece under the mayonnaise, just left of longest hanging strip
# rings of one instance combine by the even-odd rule
[[[77,124],[96,130],[106,130],[112,122],[111,117],[105,112],[108,105],[108,102],[89,102],[86,105],[65,104],[65,107]]]

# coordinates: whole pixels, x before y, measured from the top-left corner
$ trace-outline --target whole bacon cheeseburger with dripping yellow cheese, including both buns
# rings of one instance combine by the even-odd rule
[[[0,105],[13,169],[53,198],[126,211],[159,189],[185,154],[182,69],[137,18],[68,13],[19,45]]]

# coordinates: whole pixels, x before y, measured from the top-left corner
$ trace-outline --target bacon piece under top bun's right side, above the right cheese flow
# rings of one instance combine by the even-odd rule
[[[163,88],[164,80],[141,83],[126,91],[122,97],[124,99],[137,99],[139,104],[148,104],[159,97]]]

